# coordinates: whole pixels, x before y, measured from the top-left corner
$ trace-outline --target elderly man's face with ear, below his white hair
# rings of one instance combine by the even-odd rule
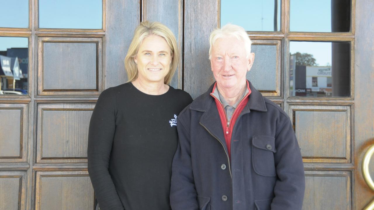
[[[211,68],[219,89],[240,91],[251,70],[254,53],[246,58],[244,42],[236,37],[218,38],[212,46]]]

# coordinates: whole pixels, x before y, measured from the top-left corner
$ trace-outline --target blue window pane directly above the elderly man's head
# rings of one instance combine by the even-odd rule
[[[240,25],[246,31],[280,31],[281,0],[221,0],[221,26]]]

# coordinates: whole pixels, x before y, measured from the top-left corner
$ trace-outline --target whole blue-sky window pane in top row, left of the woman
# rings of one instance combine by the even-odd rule
[[[39,0],[39,28],[102,28],[102,0]]]

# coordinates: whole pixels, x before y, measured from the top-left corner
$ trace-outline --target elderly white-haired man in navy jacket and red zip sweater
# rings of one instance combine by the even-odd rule
[[[286,113],[246,80],[251,40],[229,24],[209,42],[216,82],[178,116],[172,209],[300,210],[300,148]]]

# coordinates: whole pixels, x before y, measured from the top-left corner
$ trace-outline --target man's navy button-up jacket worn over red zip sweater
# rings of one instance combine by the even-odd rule
[[[178,116],[173,210],[300,210],[304,167],[288,115],[252,93],[234,125],[229,157],[214,84]]]

